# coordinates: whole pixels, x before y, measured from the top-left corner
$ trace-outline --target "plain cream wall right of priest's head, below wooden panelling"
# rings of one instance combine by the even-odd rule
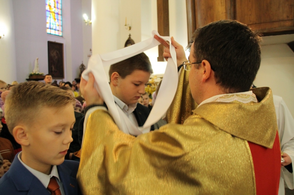
[[[261,64],[254,85],[270,87],[294,117],[294,53],[287,44],[261,47]]]

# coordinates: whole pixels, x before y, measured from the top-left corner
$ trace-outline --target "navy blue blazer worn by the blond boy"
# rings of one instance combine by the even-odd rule
[[[18,155],[18,154],[17,154]],[[1,195],[49,195],[50,193],[29,170],[21,164],[16,157],[4,176],[0,179]],[[79,163],[73,160],[64,160],[57,166],[59,178],[63,184],[65,195],[81,194],[76,180]]]

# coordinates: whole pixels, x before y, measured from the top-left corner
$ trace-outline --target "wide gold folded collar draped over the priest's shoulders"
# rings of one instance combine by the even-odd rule
[[[233,136],[273,148],[278,125],[272,91],[268,87],[254,88],[252,91],[258,93],[262,99],[260,103],[209,102],[193,112]]]

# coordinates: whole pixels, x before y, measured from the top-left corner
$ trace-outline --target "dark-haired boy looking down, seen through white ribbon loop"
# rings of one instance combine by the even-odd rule
[[[152,73],[151,63],[145,53],[112,64],[109,69],[114,101],[135,126],[143,126],[150,114],[147,107],[137,102],[145,93],[145,84]],[[154,130],[154,126],[151,126],[151,130]]]

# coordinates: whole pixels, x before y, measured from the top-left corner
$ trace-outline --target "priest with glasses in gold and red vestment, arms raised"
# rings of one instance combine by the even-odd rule
[[[183,124],[124,134],[93,75],[81,79],[87,105],[100,105],[86,121],[77,175],[83,194],[276,195],[281,153],[273,95],[269,88],[248,91],[260,66],[258,34],[237,21],[210,23],[195,31],[190,62],[173,38],[171,44],[183,66],[171,110],[183,106],[191,115],[183,101],[190,96],[198,104]],[[179,90],[185,79],[190,96]]]

